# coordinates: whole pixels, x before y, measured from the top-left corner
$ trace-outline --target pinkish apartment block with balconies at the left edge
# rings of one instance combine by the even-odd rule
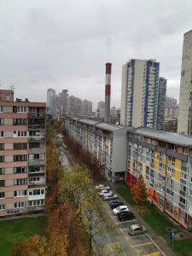
[[[44,207],[45,108],[0,90],[1,217]]]

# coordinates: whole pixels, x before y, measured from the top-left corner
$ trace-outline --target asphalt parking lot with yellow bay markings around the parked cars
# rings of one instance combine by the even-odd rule
[[[103,241],[102,248],[104,250],[99,255],[110,255],[112,253],[114,255],[166,256],[148,233],[139,236],[129,235],[128,228],[131,224],[139,224],[137,219],[121,222],[113,215],[110,201],[103,202],[103,206],[113,226],[113,232],[102,234],[101,240]]]

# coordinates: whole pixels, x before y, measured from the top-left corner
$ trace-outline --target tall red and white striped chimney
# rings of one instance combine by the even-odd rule
[[[105,115],[104,122],[108,123],[110,114],[110,100],[111,100],[111,66],[112,63],[106,63],[105,71]]]

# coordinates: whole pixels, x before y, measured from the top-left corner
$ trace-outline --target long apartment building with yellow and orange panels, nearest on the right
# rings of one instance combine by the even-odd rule
[[[137,128],[127,132],[127,176],[143,176],[149,200],[184,228],[192,226],[192,137]]]

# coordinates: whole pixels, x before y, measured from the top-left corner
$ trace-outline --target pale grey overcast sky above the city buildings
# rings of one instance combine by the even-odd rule
[[[111,105],[120,107],[122,65],[153,58],[178,99],[190,29],[191,0],[0,0],[1,88],[15,84],[15,96],[40,102],[48,88],[68,89],[96,107],[110,61]]]

